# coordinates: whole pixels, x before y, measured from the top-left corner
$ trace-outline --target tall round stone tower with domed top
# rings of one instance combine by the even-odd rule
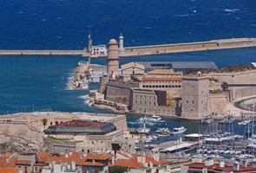
[[[108,68],[107,73],[109,78],[115,79],[119,74],[119,57],[118,57],[118,43],[115,39],[108,42]]]

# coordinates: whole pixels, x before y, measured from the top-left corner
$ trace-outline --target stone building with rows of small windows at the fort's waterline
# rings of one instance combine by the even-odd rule
[[[176,108],[167,106],[167,93],[165,91],[132,89],[129,109],[131,112],[175,115]]]

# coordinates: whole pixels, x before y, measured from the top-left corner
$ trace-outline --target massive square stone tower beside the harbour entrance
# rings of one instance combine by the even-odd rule
[[[181,117],[198,119],[208,114],[209,78],[198,74],[182,77]]]

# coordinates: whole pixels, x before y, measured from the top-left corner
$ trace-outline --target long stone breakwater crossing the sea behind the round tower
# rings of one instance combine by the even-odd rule
[[[94,50],[99,49],[99,46],[92,46],[91,43],[89,47],[82,50],[0,50],[0,55],[82,55],[85,57],[90,55],[92,58],[105,58],[108,56],[107,49],[102,50],[103,52]],[[208,42],[186,42],[124,48],[123,37],[121,37],[118,55],[120,57],[130,57],[250,47],[256,47],[256,38],[232,38]]]

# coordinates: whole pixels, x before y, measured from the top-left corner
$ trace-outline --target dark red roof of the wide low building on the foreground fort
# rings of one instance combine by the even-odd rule
[[[73,119],[71,121],[62,122],[61,124],[57,124],[56,127],[65,127],[65,126],[102,127],[103,125],[108,125],[108,123]]]

